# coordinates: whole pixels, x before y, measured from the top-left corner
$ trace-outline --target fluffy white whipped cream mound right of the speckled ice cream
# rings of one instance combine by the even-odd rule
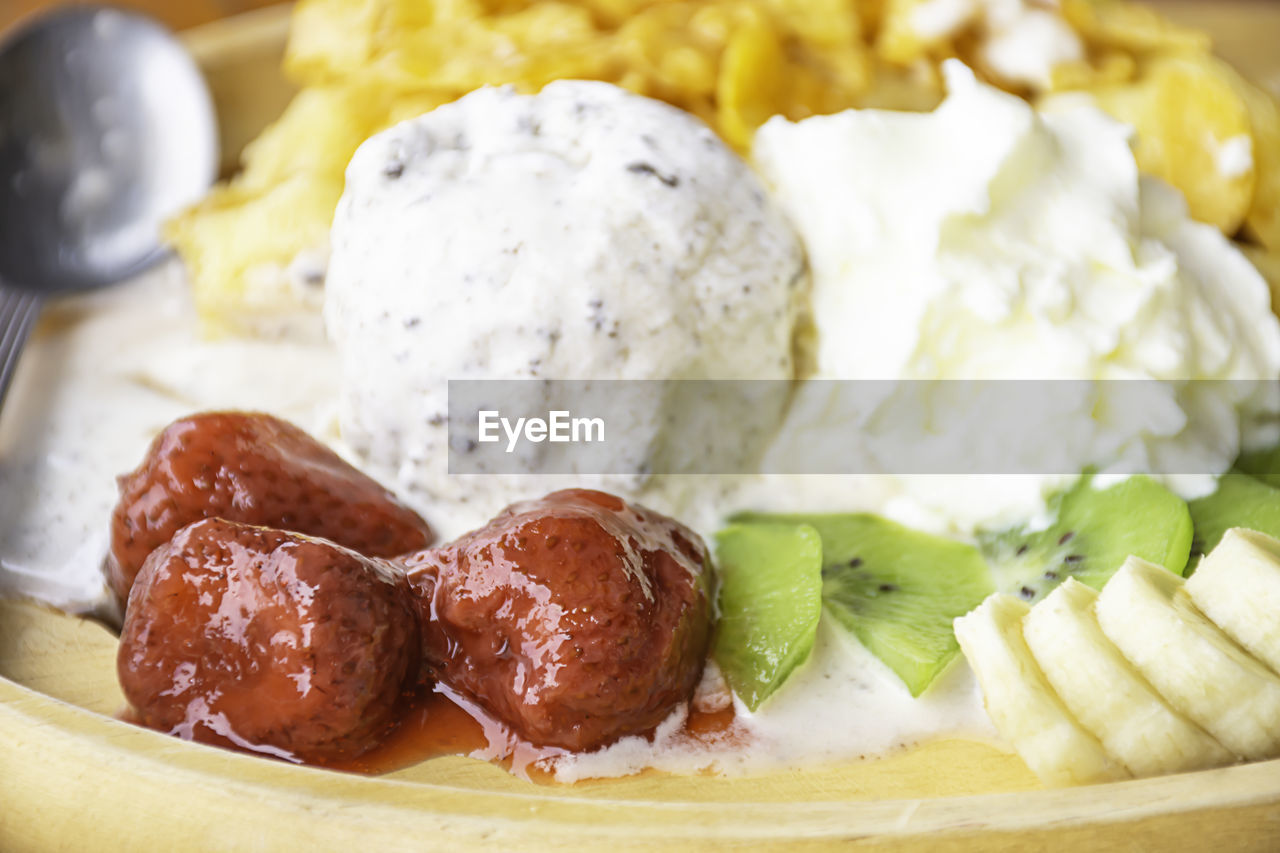
[[[859,470],[899,473],[904,453],[933,447],[973,473],[983,460],[1039,475],[1097,465],[1211,488],[1243,444],[1274,438],[1275,383],[1194,382],[1280,377],[1266,283],[1179,193],[1139,175],[1125,126],[1078,99],[1038,113],[960,63],[945,72],[933,113],[774,118],[755,138],[813,268],[817,375],[1080,382],[1028,386],[1037,403],[1012,412],[948,400],[959,386],[946,383],[887,384],[852,406],[833,402],[840,386],[812,384],[772,467],[826,443]],[[1117,382],[1133,379],[1160,382]],[[919,441],[901,429],[913,418]],[[998,515],[1006,489],[1025,511],[1053,479],[924,478],[915,491],[963,528]]]

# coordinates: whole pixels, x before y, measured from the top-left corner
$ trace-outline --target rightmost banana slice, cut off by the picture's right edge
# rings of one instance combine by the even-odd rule
[[[1187,581],[1196,606],[1280,672],[1280,540],[1231,528]]]

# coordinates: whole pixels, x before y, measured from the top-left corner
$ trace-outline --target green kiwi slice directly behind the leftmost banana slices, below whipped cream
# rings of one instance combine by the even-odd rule
[[[1050,498],[1052,523],[978,533],[996,588],[1034,602],[1066,578],[1102,589],[1130,556],[1183,574],[1192,547],[1187,502],[1148,476],[1096,488],[1092,475]]]

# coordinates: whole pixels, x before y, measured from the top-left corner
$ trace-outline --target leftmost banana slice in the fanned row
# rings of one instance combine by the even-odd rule
[[[982,685],[987,715],[1046,785],[1079,785],[1129,774],[1075,721],[1023,640],[1029,607],[995,594],[955,621],[956,639]]]

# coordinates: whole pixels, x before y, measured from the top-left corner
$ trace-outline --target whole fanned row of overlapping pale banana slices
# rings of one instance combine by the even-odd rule
[[[1036,607],[991,596],[955,630],[992,722],[1046,784],[1280,756],[1280,540],[1265,534],[1229,530],[1189,581],[1129,557],[1101,593],[1069,579]]]

